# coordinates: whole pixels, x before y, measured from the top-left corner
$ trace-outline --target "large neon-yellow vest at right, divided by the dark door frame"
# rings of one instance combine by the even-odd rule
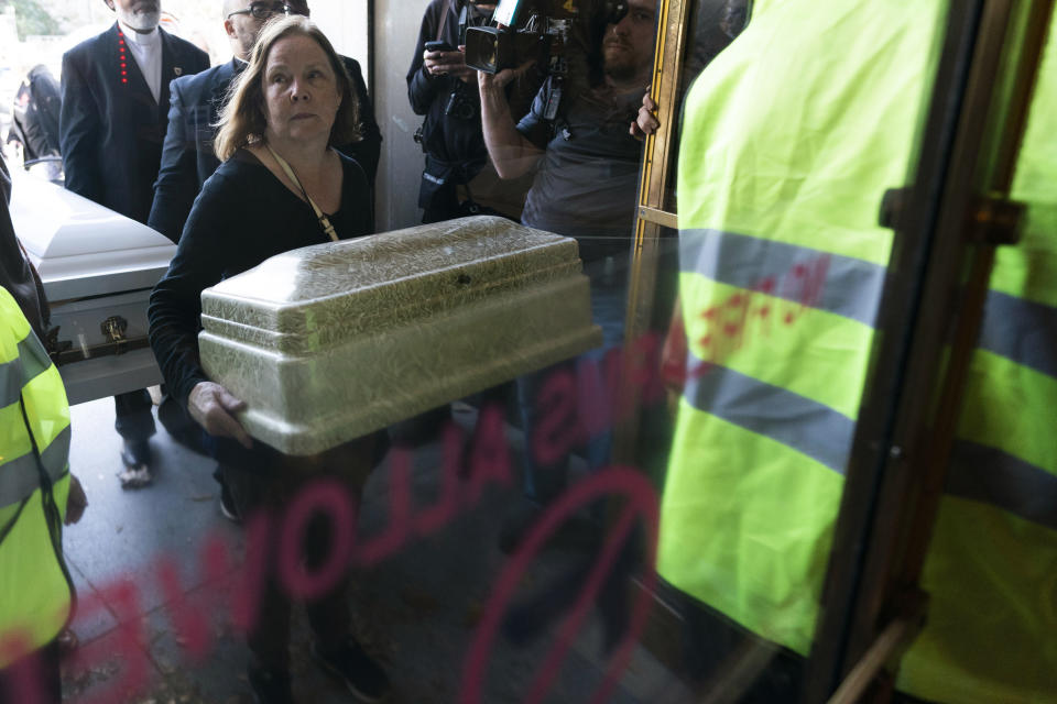
[[[658,570],[803,654],[890,256],[879,206],[908,179],[945,14],[940,0],[769,4],[685,103],[690,360]],[[929,620],[900,680],[944,702],[1057,697],[1057,441],[1045,429],[1057,407],[1053,53],[1014,193],[1037,224],[999,255],[926,564]]]

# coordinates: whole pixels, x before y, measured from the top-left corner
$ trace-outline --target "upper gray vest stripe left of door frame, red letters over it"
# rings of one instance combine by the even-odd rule
[[[771,280],[773,296],[871,327],[885,276],[884,266],[851,256],[710,229],[679,230],[679,268],[739,288]]]

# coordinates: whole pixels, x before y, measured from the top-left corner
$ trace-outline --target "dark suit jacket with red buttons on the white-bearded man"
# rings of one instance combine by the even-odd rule
[[[165,139],[168,84],[209,67],[209,56],[164,30],[157,102],[118,24],[63,55],[59,148],[66,188],[145,223]],[[122,70],[126,73],[122,74]]]

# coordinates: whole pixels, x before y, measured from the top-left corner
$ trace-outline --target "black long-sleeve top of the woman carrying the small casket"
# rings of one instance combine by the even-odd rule
[[[341,207],[329,219],[346,240],[370,234],[374,224],[363,170],[345,155],[341,164]],[[183,406],[196,384],[209,381],[198,356],[203,289],[275,254],[324,242],[329,238],[308,204],[246,150],[206,180],[148,309],[154,358]]]

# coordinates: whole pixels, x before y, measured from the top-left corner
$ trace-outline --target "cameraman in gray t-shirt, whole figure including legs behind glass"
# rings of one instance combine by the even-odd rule
[[[589,11],[586,1],[581,11]],[[623,339],[630,237],[634,227],[641,143],[629,134],[650,84],[653,66],[656,0],[630,0],[628,12],[604,26],[598,76],[570,76],[554,120],[545,114],[557,91],[553,77],[540,89],[532,110],[514,123],[504,87],[527,66],[478,74],[481,118],[488,153],[502,178],[514,178],[541,162],[525,200],[521,221],[576,238],[584,271],[591,278],[591,315],[601,326],[604,348]],[[595,43],[598,43],[596,40]],[[586,84],[585,90],[570,89]],[[581,365],[590,369],[589,365]],[[533,447],[540,409],[536,396],[553,370],[517,380],[526,448]],[[598,385],[593,385],[598,388]],[[581,399],[584,400],[584,399]],[[591,468],[609,461],[609,433],[591,438],[586,454]],[[538,509],[565,487],[566,466],[538,466],[525,452],[524,516],[512,517],[500,539],[513,548]]]

